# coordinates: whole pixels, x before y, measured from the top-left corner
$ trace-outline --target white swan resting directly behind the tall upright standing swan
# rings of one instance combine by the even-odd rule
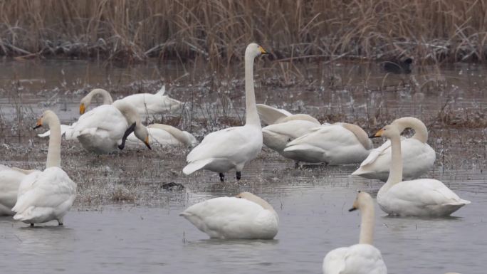
[[[263,144],[286,157],[286,144],[320,126],[320,122],[306,114],[293,115],[268,105],[257,104],[258,115],[268,126],[263,127]]]

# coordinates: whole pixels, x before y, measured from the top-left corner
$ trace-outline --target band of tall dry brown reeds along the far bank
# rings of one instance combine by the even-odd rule
[[[4,0],[0,54],[227,65],[276,58],[486,60],[487,0]]]

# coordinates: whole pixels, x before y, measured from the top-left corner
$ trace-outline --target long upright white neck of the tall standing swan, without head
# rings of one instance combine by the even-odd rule
[[[261,127],[261,120],[258,117],[256,106],[256,94],[253,88],[253,56],[246,53],[245,56],[245,108],[246,125],[258,125]]]

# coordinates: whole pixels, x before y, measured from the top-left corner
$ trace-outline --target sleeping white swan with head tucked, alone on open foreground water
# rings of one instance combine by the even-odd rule
[[[278,233],[279,217],[260,197],[243,192],[189,206],[179,214],[210,238],[272,239]]]

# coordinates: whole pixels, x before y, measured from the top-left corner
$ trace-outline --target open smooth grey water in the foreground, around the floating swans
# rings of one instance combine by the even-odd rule
[[[376,206],[375,246],[389,273],[483,273],[485,190],[468,190],[480,181],[441,179],[472,201],[454,218],[389,218]],[[262,189],[280,216],[273,241],[209,240],[177,216],[185,206],[214,196],[191,192],[184,204],[73,210],[61,228],[55,222],[29,228],[1,218],[2,270],[15,273],[21,265],[39,273],[320,273],[328,251],[358,241],[360,216],[347,211],[357,187],[372,192],[379,187],[360,179],[334,186],[332,180]]]

